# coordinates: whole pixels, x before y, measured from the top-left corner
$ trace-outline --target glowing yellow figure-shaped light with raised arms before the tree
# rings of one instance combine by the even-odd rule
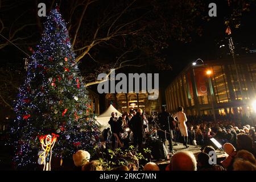
[[[39,137],[40,143],[42,144],[42,151],[38,153],[39,164],[44,164],[43,171],[51,171],[51,159],[52,159],[52,148],[59,135],[52,133],[52,135],[42,135]]]

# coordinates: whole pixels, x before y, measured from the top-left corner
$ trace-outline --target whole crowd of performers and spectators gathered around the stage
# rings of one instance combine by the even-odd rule
[[[143,111],[138,109],[137,112],[133,111],[130,114],[123,113],[119,118],[112,113],[109,125],[111,129],[105,129],[102,133],[104,147],[107,146],[106,143],[112,143],[112,149],[128,147],[132,144],[138,146],[141,151],[149,135],[158,137],[163,143],[168,141],[169,153],[172,155],[170,164],[166,167],[167,171],[256,170],[254,122],[236,118],[234,115],[218,116],[217,121],[214,122],[211,115],[187,117],[183,108],[179,107],[178,112],[174,115],[170,115],[164,109],[158,116],[146,118]],[[168,134],[170,134],[169,138]],[[222,145],[226,155],[226,158],[217,164],[209,163],[211,156],[209,152],[216,152],[210,141],[211,138],[216,139]],[[184,144],[184,148],[188,148],[187,144],[201,146],[201,152],[196,155],[189,151],[175,152],[172,142],[181,142]],[[96,169],[92,167],[94,164],[99,166],[100,163],[88,162],[86,165],[90,167],[82,169]],[[129,168],[120,166],[113,170],[126,171]],[[159,166],[150,162],[144,166],[143,170],[159,171]]]

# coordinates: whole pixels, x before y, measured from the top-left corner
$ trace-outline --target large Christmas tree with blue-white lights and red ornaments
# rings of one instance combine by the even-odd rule
[[[39,138],[44,135],[59,135],[52,150],[57,157],[92,151],[98,142],[98,126],[58,9],[49,13],[44,27],[15,104],[12,131],[18,166],[38,162]]]

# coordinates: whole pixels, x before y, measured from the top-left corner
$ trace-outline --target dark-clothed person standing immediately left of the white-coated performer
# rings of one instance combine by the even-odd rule
[[[171,117],[170,113],[167,112],[166,107],[162,107],[162,113],[158,114],[158,121],[160,124],[161,130],[158,131],[159,137],[165,143],[166,140],[169,142],[170,152],[174,152],[174,147],[172,144],[172,130],[175,127],[175,119]],[[166,131],[168,134],[164,133]]]

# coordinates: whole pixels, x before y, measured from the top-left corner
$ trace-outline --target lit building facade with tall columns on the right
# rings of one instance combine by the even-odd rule
[[[256,98],[256,56],[236,57],[236,65],[233,59],[190,64],[171,82],[165,94],[171,113],[183,106],[188,115],[251,115]]]

